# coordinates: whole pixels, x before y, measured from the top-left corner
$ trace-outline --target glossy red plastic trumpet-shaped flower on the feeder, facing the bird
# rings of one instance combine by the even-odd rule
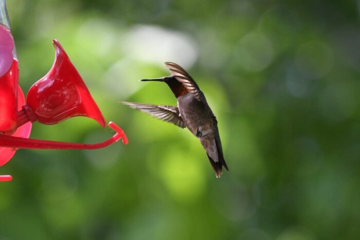
[[[99,107],[66,52],[57,40],[55,62],[50,71],[34,83],[23,110],[17,114],[17,125],[28,121],[57,124],[70,117],[84,116],[106,126]]]

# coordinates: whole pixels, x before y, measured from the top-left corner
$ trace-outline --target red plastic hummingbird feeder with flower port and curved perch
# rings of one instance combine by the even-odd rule
[[[19,68],[10,30],[5,0],[0,0],[0,166],[7,163],[17,149],[100,149],[120,138],[128,144],[125,133],[109,122],[116,134],[96,144],[30,139],[32,122],[57,124],[68,118],[84,116],[105,128],[105,119],[84,81],[57,40],[55,61],[49,72],[35,82],[25,96],[19,86]],[[0,175],[0,181],[10,181]]]

